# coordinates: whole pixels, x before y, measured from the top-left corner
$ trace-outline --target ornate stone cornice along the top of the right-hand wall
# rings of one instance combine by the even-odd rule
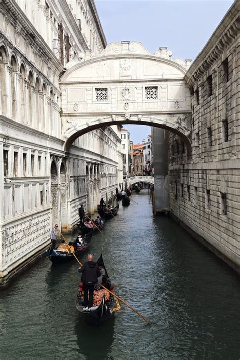
[[[201,81],[205,73],[233,44],[240,32],[240,2],[236,1],[185,75],[188,86]]]

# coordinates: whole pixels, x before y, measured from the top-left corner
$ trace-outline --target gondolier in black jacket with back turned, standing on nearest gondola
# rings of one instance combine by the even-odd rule
[[[81,268],[79,268],[78,271],[82,273],[81,281],[83,283],[84,291],[83,310],[90,311],[89,308],[93,306],[94,284],[98,282],[98,276],[100,276],[98,264],[93,261],[93,254],[88,254],[88,261]]]

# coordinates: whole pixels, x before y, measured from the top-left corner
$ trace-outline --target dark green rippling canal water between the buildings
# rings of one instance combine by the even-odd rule
[[[103,253],[114,291],[153,324],[126,306],[102,327],[82,323],[77,263],[44,257],[0,292],[1,360],[239,360],[239,277],[170,218],[154,217],[147,190],[133,199],[90,250]]]

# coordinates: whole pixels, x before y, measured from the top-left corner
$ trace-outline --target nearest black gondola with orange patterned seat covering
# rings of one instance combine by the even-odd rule
[[[105,268],[102,255],[99,257],[97,263],[101,263],[102,267],[106,273],[106,282],[104,286],[108,289],[113,289],[111,285],[110,278],[107,274],[107,270]],[[101,298],[102,297],[102,298]],[[99,300],[101,298],[101,300]],[[83,290],[82,284],[79,284],[78,292],[76,295],[76,308],[79,311],[79,316],[90,325],[101,325],[108,318],[110,318],[116,310],[119,310],[121,307],[119,303],[117,303],[117,307],[114,308],[115,301],[113,295],[108,293],[107,290],[100,288],[99,290],[94,290],[94,302],[96,305],[90,308],[90,311],[84,311],[83,305]],[[100,302],[100,303],[99,303]],[[99,303],[99,304],[98,304]]]

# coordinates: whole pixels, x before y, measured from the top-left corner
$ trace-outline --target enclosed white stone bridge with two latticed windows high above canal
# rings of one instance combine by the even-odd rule
[[[68,63],[60,80],[64,150],[97,128],[141,124],[177,134],[189,156],[191,104],[184,81],[189,66],[166,47],[150,54],[129,41],[110,43],[98,56],[88,50],[80,62]]]

